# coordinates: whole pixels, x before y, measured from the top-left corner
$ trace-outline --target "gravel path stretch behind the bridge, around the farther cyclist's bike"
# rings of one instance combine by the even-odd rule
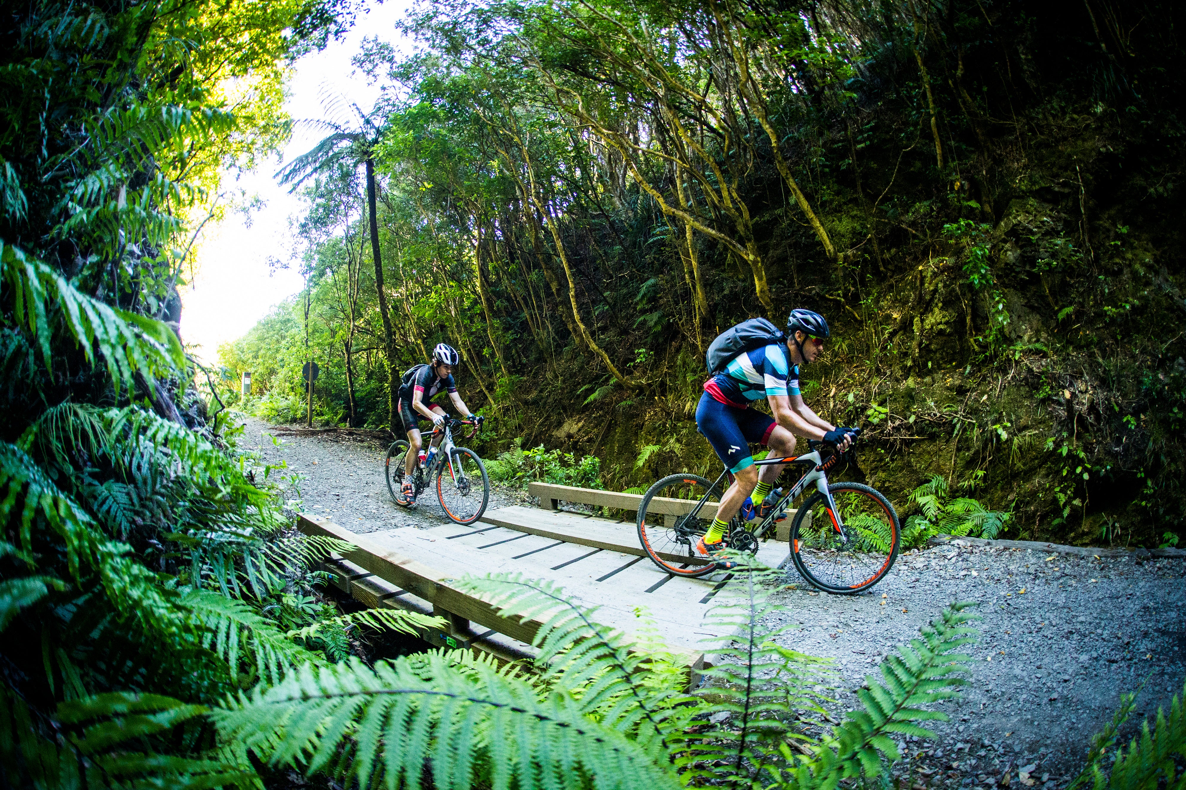
[[[428,527],[448,524],[432,489],[420,495],[415,507],[404,509],[391,501],[383,480],[387,445],[344,433],[273,437],[272,426],[243,417],[241,450],[259,452],[261,461],[288,468],[273,475],[299,475],[287,496],[294,509],[305,509],[333,520],[351,532],[366,533],[395,527]],[[491,486],[487,510],[514,505],[525,494]]]

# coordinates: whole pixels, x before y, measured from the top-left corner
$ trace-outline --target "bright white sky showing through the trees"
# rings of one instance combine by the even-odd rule
[[[387,0],[383,5],[371,0],[368,4],[370,13],[359,15],[342,41],[298,60],[285,103],[289,115],[293,118],[325,116],[319,97],[326,91],[344,97],[347,107],[356,103],[364,111],[370,110],[378,97],[378,86],[368,85],[365,77],[350,65],[350,58],[361,50],[363,38],[370,36],[391,41],[409,53],[413,43],[395,31],[395,23],[410,5],[410,0]],[[283,161],[312,148],[324,134],[298,131],[283,152]],[[248,195],[259,195],[263,207],[253,211],[250,220],[240,212],[228,212],[221,224],[206,225],[196,246],[195,280],[181,293],[181,336],[208,365],[218,361],[219,345],[241,338],[275,304],[301,289],[301,278],[294,268],[278,270],[274,275],[268,272],[269,257],[289,258],[293,245],[288,238],[288,218],[302,213],[301,201],[273,179],[276,169],[279,163],[268,160],[257,172],[247,173],[238,181],[232,174],[228,175],[224,188],[243,188]],[[185,275],[190,275],[189,270]]]

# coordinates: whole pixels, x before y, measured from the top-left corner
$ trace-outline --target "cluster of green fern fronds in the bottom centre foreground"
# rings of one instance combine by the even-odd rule
[[[796,709],[820,711],[804,686],[825,680],[824,662],[774,643],[760,625],[773,609],[766,587],[777,571],[745,559],[741,595],[712,615],[737,627],[721,640],[725,661],[706,691],[689,696],[677,660],[645,636],[633,642],[600,625],[550,582],[497,574],[463,582],[496,608],[541,623],[541,676],[497,669],[464,651],[429,653],[366,667],[357,661],[307,667],[278,685],[241,693],[211,717],[219,740],[241,744],[270,765],[325,771],[361,785],[467,788],[677,788],[703,778],[753,788],[835,786],[881,775],[899,758],[891,734],[931,737],[917,722],[945,718],[933,705],[965,682],[973,615],[957,604],[867,679],[863,709],[820,741],[793,730]],[[645,623],[645,621],[644,621]],[[728,713],[728,728],[703,728]],[[283,733],[278,737],[278,733]],[[808,744],[808,754],[786,738]],[[707,767],[706,767],[707,766]]]

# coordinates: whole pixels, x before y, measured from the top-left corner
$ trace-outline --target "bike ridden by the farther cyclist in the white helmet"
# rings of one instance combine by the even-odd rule
[[[434,429],[423,439],[426,445],[431,445],[433,438],[445,433],[440,447],[427,463],[413,464],[412,484],[415,496],[419,497],[433,484],[435,475],[436,499],[445,508],[445,515],[457,524],[473,524],[482,518],[486,512],[486,505],[490,503],[490,476],[486,475],[486,465],[482,463],[477,452],[453,444],[453,430],[463,425],[472,426],[465,435],[466,439],[480,430],[480,425],[472,420],[447,418],[442,428]],[[391,500],[401,507],[410,507],[401,505],[398,500],[408,448],[407,439],[397,439],[388,449],[387,461],[383,462],[387,490],[391,494]]]

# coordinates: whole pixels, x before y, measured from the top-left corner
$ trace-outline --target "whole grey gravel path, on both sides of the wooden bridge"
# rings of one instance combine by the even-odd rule
[[[299,474],[293,506],[366,533],[446,522],[426,492],[404,510],[383,481],[387,448],[342,435],[270,438],[266,423],[244,418],[242,449]],[[489,509],[527,501],[495,487]],[[1050,558],[1050,559],[1047,559]],[[952,600],[976,600],[983,619],[971,646],[971,682],[951,715],[932,725],[937,743],[912,743],[905,766],[912,786],[1065,786],[1082,765],[1120,694],[1144,683],[1137,712],[1168,708],[1186,679],[1186,560],[1093,559],[1029,550],[942,546],[899,558],[869,593],[816,593],[793,569],[773,600],[788,611],[769,624],[795,623],[782,642],[836,660],[836,709],[859,705],[855,691],[895,644],[918,634]],[[905,611],[904,611],[905,610]],[[1133,732],[1143,715],[1134,715]],[[906,750],[904,750],[906,751]],[[1033,766],[1019,783],[1018,769]],[[1028,771],[1027,771],[1028,773]]]

